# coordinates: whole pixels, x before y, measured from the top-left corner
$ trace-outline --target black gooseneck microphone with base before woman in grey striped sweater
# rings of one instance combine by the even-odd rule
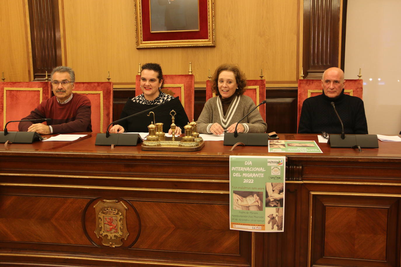
[[[266,100],[263,100],[259,105],[255,106],[251,111],[249,111],[241,120],[246,118],[253,110],[255,110],[258,106],[266,104]],[[239,122],[235,124],[234,133],[225,133],[224,134],[224,143],[225,146],[232,146],[237,143],[243,143],[244,145],[249,146],[267,146],[267,140],[269,139],[266,133],[241,133],[238,135],[237,126]]]

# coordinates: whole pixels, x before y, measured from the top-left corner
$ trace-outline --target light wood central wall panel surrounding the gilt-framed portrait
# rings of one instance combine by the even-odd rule
[[[188,73],[205,83],[222,63],[236,63],[249,79],[263,68],[269,83],[298,80],[298,0],[215,1],[216,46],[209,48],[135,48],[132,0],[61,0],[65,62],[79,81],[134,82],[138,63],[158,62],[165,74]]]

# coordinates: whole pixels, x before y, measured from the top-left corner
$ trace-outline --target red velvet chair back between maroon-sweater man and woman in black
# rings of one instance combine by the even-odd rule
[[[92,132],[106,132],[113,121],[113,83],[75,82],[73,92],[91,100]]]

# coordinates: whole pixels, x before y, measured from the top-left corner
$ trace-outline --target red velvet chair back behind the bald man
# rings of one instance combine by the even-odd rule
[[[302,104],[304,100],[311,96],[317,96],[323,93],[322,81],[312,79],[301,79],[298,80],[298,120],[297,129],[300,123]],[[363,80],[345,80],[344,94],[351,96],[358,96],[362,99],[363,94]]]

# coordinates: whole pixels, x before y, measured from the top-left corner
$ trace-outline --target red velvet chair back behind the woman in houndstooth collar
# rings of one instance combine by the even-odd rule
[[[170,94],[174,97],[179,97],[182,106],[184,107],[185,113],[191,122],[194,118],[194,84],[195,78],[193,74],[182,74],[182,75],[163,75],[164,87],[162,92]],[[141,76],[136,75],[135,83],[135,96],[142,94],[140,88]]]

